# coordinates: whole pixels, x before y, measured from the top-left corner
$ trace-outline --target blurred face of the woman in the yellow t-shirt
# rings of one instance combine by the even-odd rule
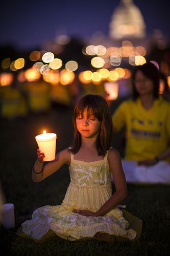
[[[134,84],[136,91],[139,93],[140,96],[153,94],[153,81],[145,76],[140,70],[136,72]]]

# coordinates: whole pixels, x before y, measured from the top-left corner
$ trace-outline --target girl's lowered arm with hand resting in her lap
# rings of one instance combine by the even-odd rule
[[[89,210],[77,210],[74,212],[84,215],[84,216],[103,216],[107,214],[111,209],[117,206],[122,200],[127,197],[127,184],[126,178],[124,174],[124,170],[122,167],[122,162],[120,155],[117,150],[111,149],[108,154],[108,162],[110,165],[110,169],[113,174],[113,180],[115,184],[115,192],[110,197],[106,203],[96,212],[91,212]]]

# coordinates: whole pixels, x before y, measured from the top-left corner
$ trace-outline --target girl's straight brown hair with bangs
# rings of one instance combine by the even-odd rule
[[[69,151],[76,154],[80,149],[81,134],[77,130],[76,119],[79,115],[83,116],[85,109],[87,109],[87,118],[90,115],[94,115],[101,122],[100,132],[96,139],[96,148],[99,156],[105,156],[110,147],[113,124],[108,104],[100,95],[87,94],[77,102],[72,115],[74,141]]]

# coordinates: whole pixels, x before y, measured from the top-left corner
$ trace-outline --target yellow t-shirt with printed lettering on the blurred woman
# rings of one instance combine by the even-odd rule
[[[139,98],[126,100],[117,108],[112,120],[115,132],[126,126],[125,159],[151,159],[168,147],[170,104],[161,96],[149,110],[143,108]]]

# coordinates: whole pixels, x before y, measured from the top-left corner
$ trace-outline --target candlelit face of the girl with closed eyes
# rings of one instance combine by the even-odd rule
[[[83,116],[78,115],[76,118],[77,130],[85,138],[95,138],[98,136],[101,122],[93,115],[87,117],[87,109],[84,110]]]

